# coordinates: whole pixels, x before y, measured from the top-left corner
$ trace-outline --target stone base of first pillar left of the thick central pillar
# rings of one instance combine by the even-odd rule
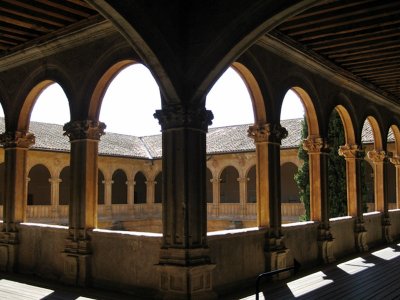
[[[91,251],[88,240],[73,241],[68,239],[64,258],[62,282],[75,286],[88,286],[91,280]]]

